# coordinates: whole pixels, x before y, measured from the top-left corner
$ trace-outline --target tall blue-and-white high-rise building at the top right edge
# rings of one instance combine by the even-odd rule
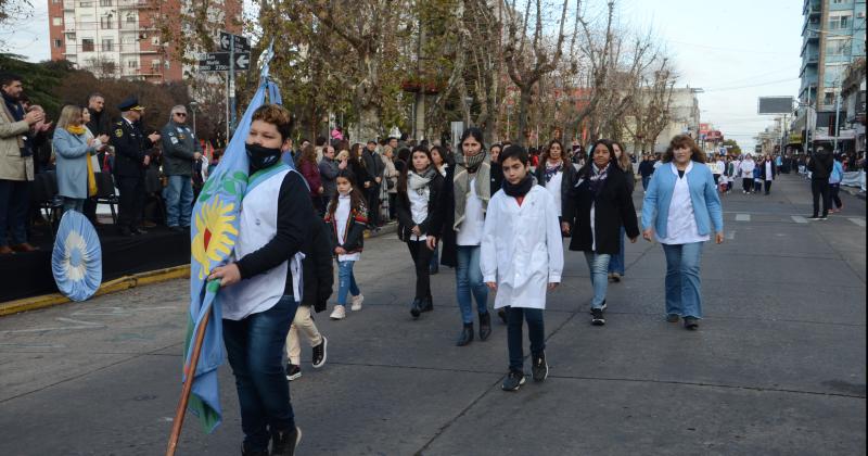
[[[848,65],[865,58],[864,0],[804,0],[799,107],[791,147],[828,142],[845,115],[840,103]],[[797,141],[793,141],[797,140]],[[810,148],[809,148],[810,149]]]

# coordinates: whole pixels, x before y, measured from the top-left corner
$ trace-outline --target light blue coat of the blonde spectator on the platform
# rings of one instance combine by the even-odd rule
[[[85,135],[73,135],[65,128],[54,130],[52,145],[58,163],[58,194],[88,198],[88,152],[95,149],[88,145]]]

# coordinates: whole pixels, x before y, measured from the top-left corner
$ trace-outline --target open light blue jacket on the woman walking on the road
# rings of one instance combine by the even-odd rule
[[[675,191],[678,175],[672,172],[666,163],[651,175],[651,182],[642,203],[642,230],[654,228],[661,238],[667,238],[669,204]],[[712,226],[716,232],[724,230],[724,213],[720,197],[714,185],[711,169],[702,163],[693,162],[693,168],[687,173],[687,186],[690,188],[690,201],[693,203],[693,215],[701,236],[712,235]]]

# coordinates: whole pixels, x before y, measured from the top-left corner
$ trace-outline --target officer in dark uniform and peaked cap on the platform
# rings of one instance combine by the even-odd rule
[[[122,119],[114,125],[112,145],[115,148],[115,183],[120,191],[118,231],[122,236],[144,235],[139,228],[144,206],[144,170],[151,163],[145,153],[159,141],[159,135],[145,136],[141,130],[144,106],[137,98],[128,98],[118,104]]]

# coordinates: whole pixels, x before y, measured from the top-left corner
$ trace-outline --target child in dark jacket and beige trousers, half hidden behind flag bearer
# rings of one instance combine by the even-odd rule
[[[310,216],[310,239],[302,248],[305,258],[302,261],[303,268],[303,294],[302,303],[295,312],[295,317],[290,326],[290,333],[286,335],[286,380],[295,380],[302,377],[302,346],[298,332],[303,332],[310,342],[314,354],[310,357],[315,369],[319,369],[326,364],[327,345],[329,341],[320,334],[317,325],[310,317],[310,308],[320,313],[326,309],[326,303],[332,295],[334,284],[334,270],[332,269],[332,239],[329,233],[329,226],[322,223],[319,214]]]

